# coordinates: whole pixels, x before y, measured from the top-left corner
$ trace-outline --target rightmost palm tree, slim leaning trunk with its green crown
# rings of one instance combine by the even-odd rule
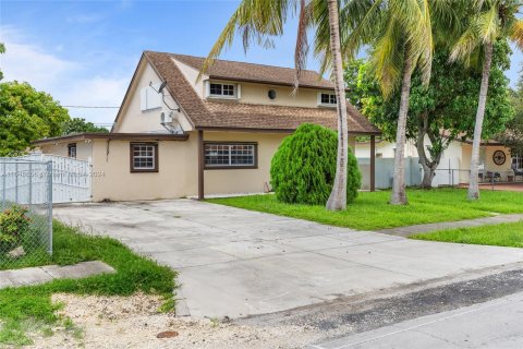
[[[510,39],[516,46],[523,48],[523,22],[516,17],[521,7],[520,1],[465,0],[465,2],[472,2],[473,13],[471,13],[466,28],[451,51],[450,60],[461,60],[469,64],[473,55],[477,53],[478,50],[483,51],[482,85],[479,87],[476,122],[474,125],[469,184],[469,200],[478,200],[479,147],[494,46],[497,40]]]

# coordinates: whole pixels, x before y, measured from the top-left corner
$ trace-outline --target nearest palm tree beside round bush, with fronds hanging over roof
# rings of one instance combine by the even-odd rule
[[[340,50],[338,0],[314,0],[313,2],[324,2],[327,4],[327,8],[324,9],[324,15],[328,17],[329,55],[333,58],[332,72],[338,104],[338,157],[335,183],[326,206],[331,210],[340,210],[346,208],[349,135],[343,67]],[[313,2],[306,2],[305,0],[243,0],[210,50],[200,74],[219,57],[226,45],[232,45],[236,32],[240,32],[243,38],[245,50],[252,41],[257,41],[264,46],[271,46],[271,38],[283,34],[283,24],[288,19],[288,14],[290,12],[299,12],[297,39],[294,53],[296,69],[294,85],[296,89],[300,84],[300,73],[305,67],[308,52],[307,27],[314,25],[312,22],[312,13],[315,8]]]

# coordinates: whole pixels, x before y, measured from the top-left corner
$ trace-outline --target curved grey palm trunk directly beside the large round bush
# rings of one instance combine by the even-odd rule
[[[346,208],[346,163],[349,151],[349,133],[346,123],[345,83],[343,81],[343,63],[340,49],[340,28],[338,0],[329,0],[330,50],[332,55],[332,73],[335,75],[336,99],[338,101],[338,156],[336,177],[327,201],[327,209]]]

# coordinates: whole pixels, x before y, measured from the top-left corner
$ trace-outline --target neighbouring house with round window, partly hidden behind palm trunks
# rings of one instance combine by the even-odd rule
[[[425,144],[430,144],[428,137]],[[370,142],[356,142],[354,154],[360,163],[365,163],[368,158]],[[378,183],[377,188],[387,188],[390,181],[379,180],[379,176],[385,172],[392,176],[393,157],[396,155],[396,143],[377,140],[375,142]],[[457,139],[443,152],[441,161],[437,168],[436,177],[433,181],[434,186],[469,184],[470,169],[472,157],[472,142],[470,140]],[[405,163],[409,185],[418,185],[422,179],[422,168],[418,165],[418,153],[414,141],[409,140],[405,143],[405,158],[410,161]],[[412,169],[409,169],[412,167]],[[491,182],[514,182],[523,180],[523,159],[511,158],[510,149],[497,141],[482,142],[479,148],[479,181]],[[417,171],[417,173],[416,173]],[[415,173],[415,174],[414,174]]]

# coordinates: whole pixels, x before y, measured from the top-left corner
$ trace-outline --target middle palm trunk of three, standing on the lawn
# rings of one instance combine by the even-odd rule
[[[398,116],[398,131],[396,134],[394,178],[390,204],[406,205],[405,194],[405,130],[409,115],[409,98],[411,95],[412,62],[408,59],[409,49],[405,50],[403,67],[403,81],[401,83],[400,112]]]

